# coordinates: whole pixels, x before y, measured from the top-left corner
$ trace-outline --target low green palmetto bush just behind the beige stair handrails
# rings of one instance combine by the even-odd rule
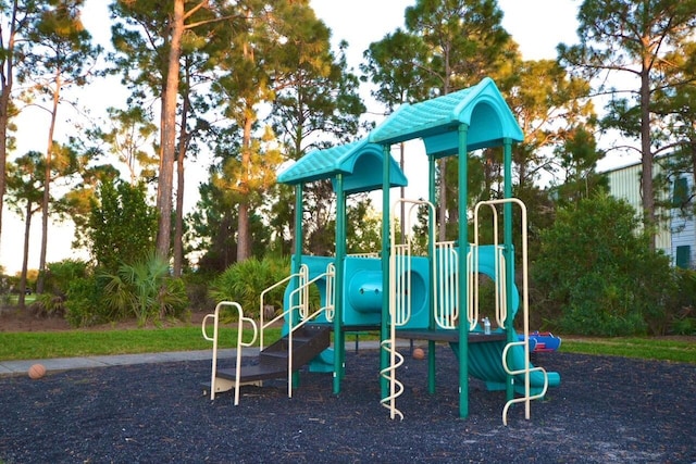
[[[289,260],[251,258],[229,266],[211,285],[210,296],[216,302],[236,301],[245,315],[259,317],[259,297],[269,287],[290,275]],[[283,306],[285,286],[279,286],[265,298],[265,304]]]

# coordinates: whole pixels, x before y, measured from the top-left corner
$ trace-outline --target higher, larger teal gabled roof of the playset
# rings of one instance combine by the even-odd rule
[[[458,130],[467,124],[467,151],[499,147],[524,135],[493,79],[468,89],[414,104],[399,106],[370,134],[380,145],[422,138],[428,154],[445,156],[459,151]]]

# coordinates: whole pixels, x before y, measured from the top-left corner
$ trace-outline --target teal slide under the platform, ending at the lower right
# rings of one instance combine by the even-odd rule
[[[469,374],[486,383],[488,390],[505,390],[507,373],[502,367],[502,350],[507,342],[469,343]],[[450,343],[456,355],[459,356],[459,343]],[[512,347],[508,350],[509,368],[518,371],[524,368],[523,347]],[[534,367],[530,363],[530,367]],[[548,387],[558,387],[561,383],[560,374],[547,372]],[[533,372],[530,375],[530,387],[532,394],[538,394],[544,388],[544,374]],[[524,375],[514,377],[514,391],[524,394]]]

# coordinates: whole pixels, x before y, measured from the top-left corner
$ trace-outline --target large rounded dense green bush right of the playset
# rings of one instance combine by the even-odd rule
[[[558,211],[554,226],[542,234],[533,278],[561,331],[664,333],[674,273],[639,230],[631,205],[604,195]]]

